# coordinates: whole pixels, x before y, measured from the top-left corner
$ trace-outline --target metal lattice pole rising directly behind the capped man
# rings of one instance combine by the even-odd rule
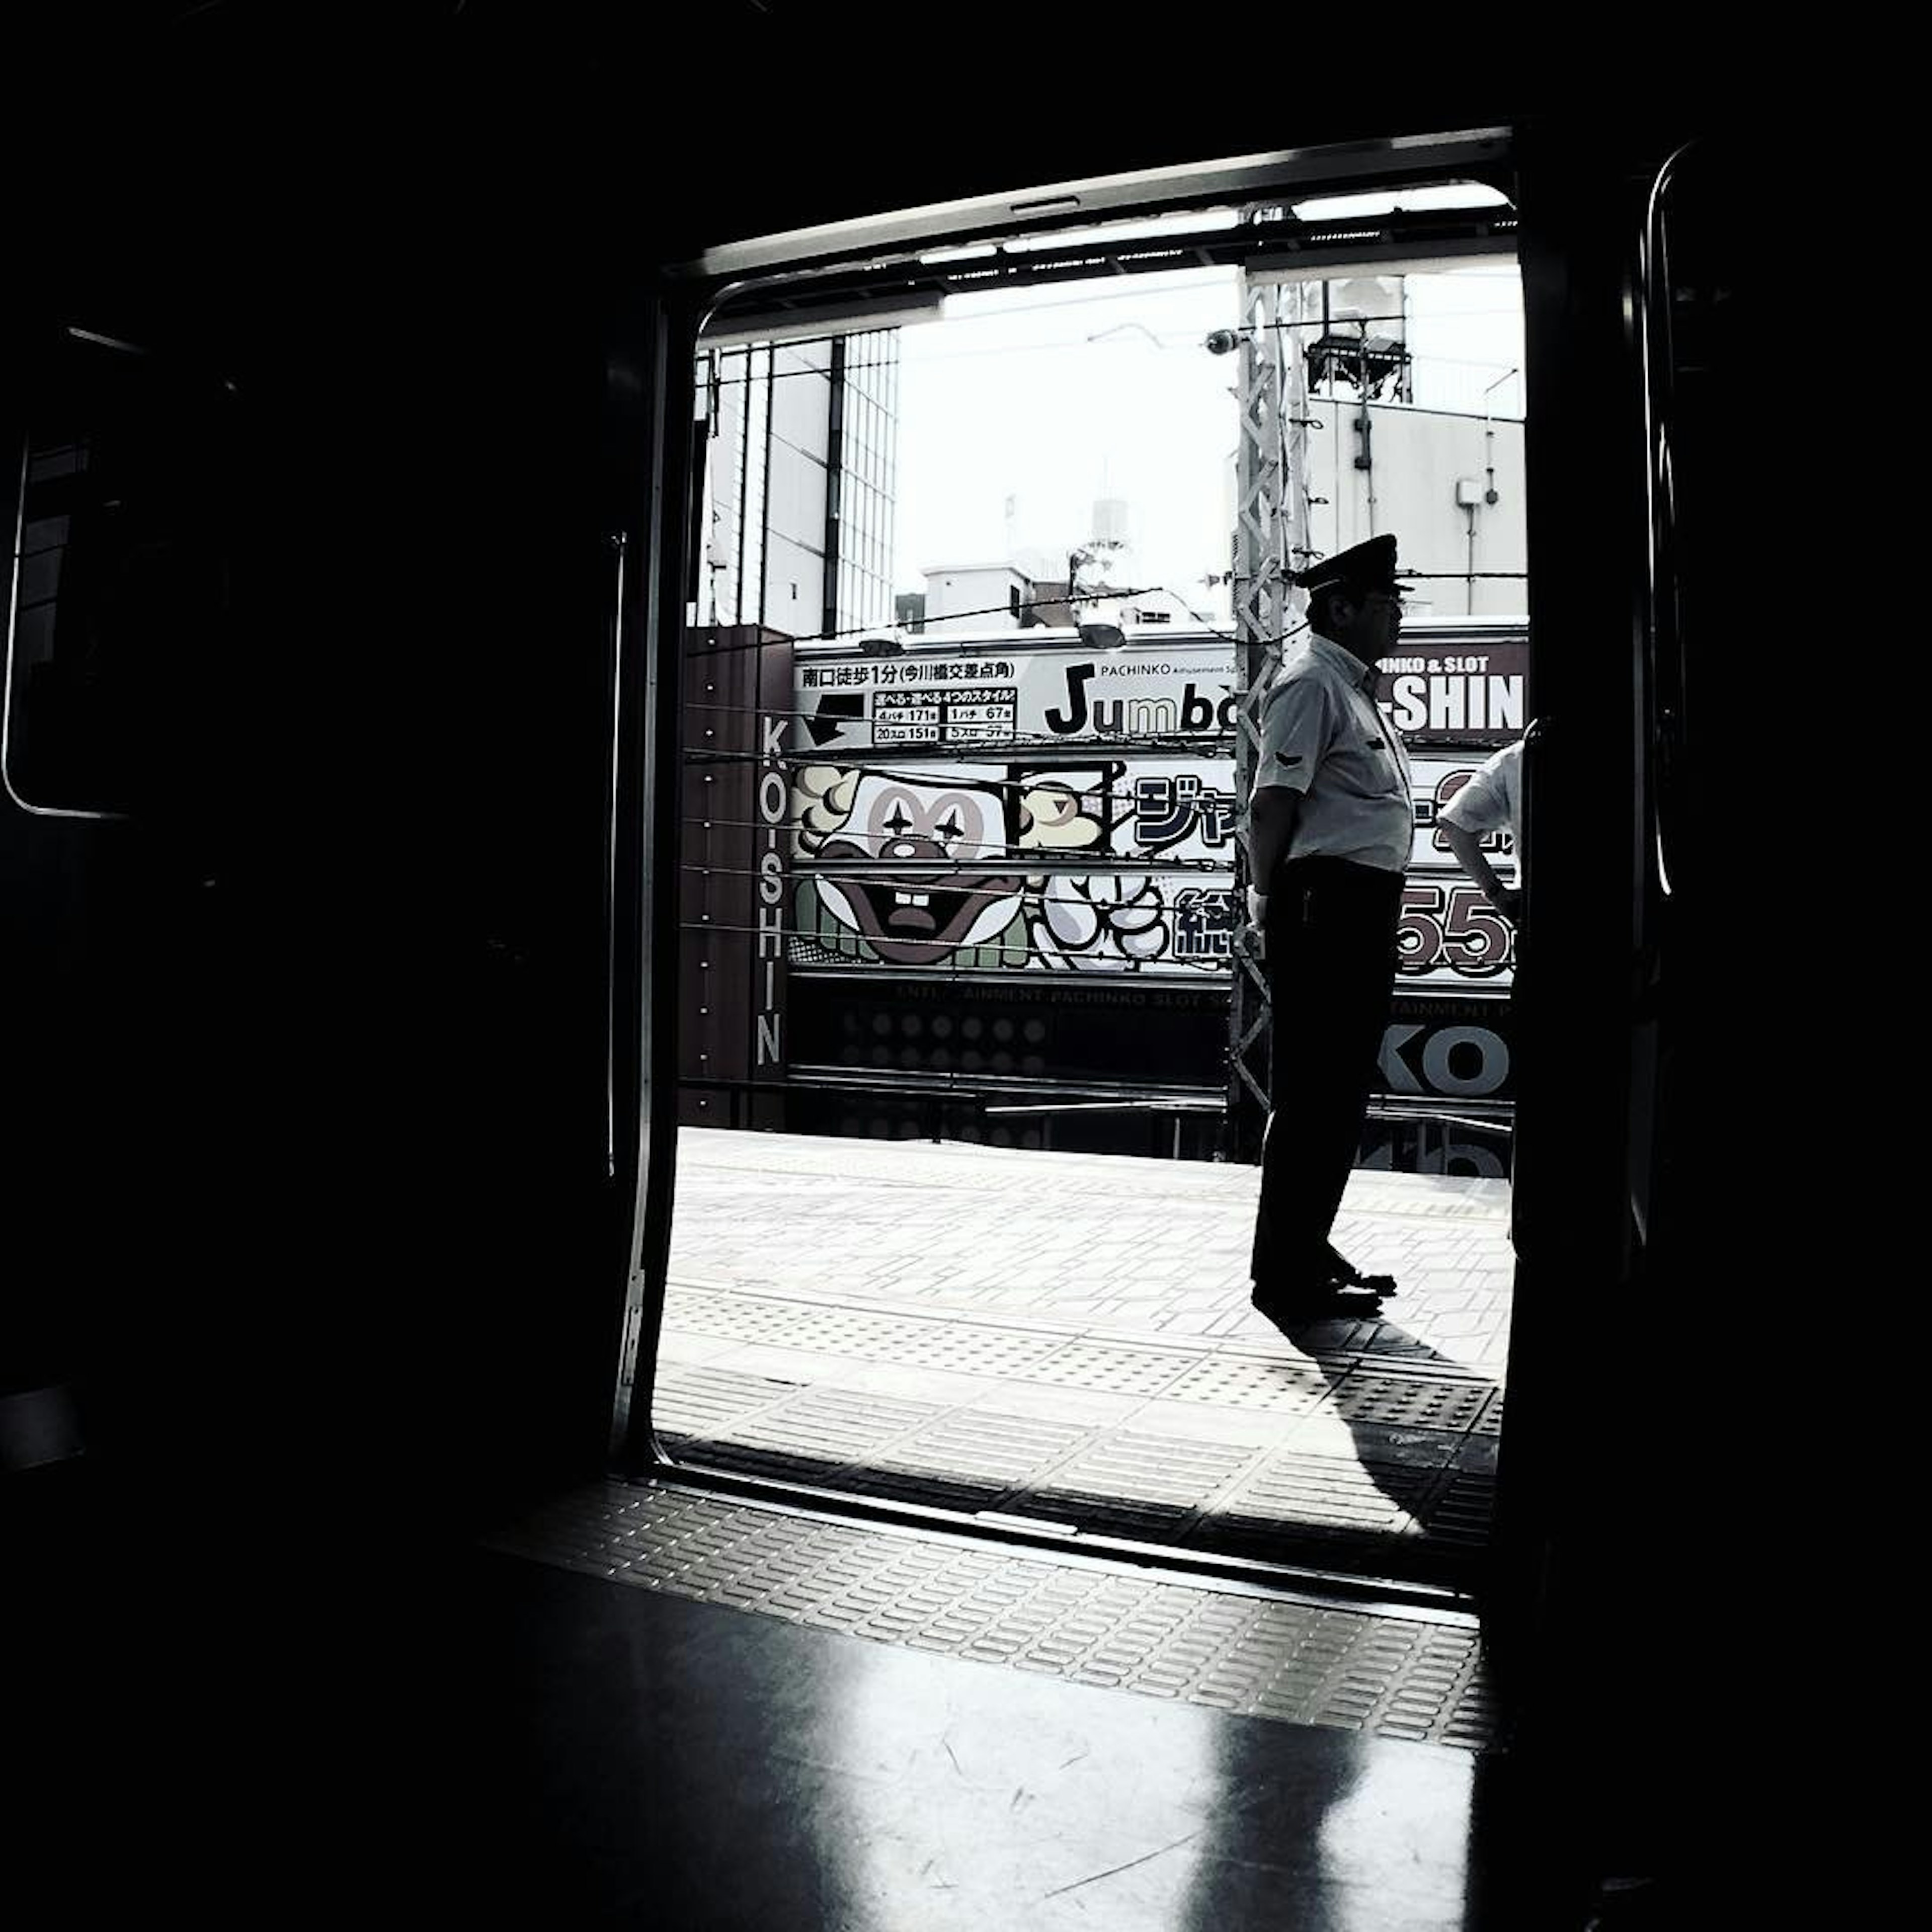
[[[1262,750],[1262,705],[1281,663],[1281,638],[1302,609],[1289,574],[1308,551],[1306,282],[1242,276],[1240,450],[1235,506],[1235,632],[1240,701],[1235,707],[1235,908],[1244,918],[1252,877],[1248,800]],[[1219,344],[1213,344],[1219,346]],[[1267,976],[1252,951],[1233,954],[1223,1153],[1256,1161],[1267,1126]]]

